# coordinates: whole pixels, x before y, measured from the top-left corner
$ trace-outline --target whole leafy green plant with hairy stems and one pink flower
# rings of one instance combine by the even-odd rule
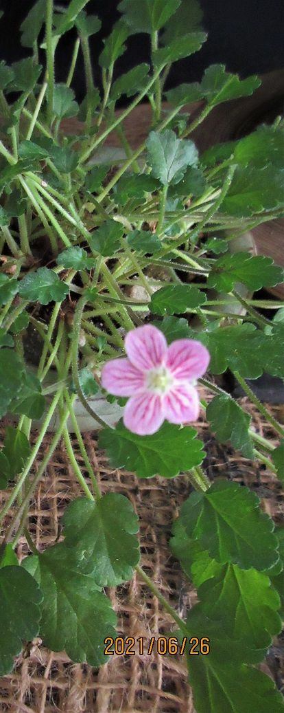
[[[249,702],[252,713],[280,713],[280,693],[258,664],[281,627],[283,530],[247,488],[209,482],[197,436],[199,409],[206,409],[216,438],[283,479],[283,426],[246,383],[263,371],[283,377],[282,312],[270,320],[261,309],[280,304],[242,292],[278,284],[283,272],[270,258],[229,250],[251,227],[283,215],[283,122],[200,155],[192,130],[218,103],[251,94],[258,78],[240,80],[211,66],[201,83],[167,91],[170,108],[162,111],[172,63],[206,41],[198,6],[122,0],[121,19],[99,57],[100,96],[88,44],[100,19],[85,6],[88,0],[71,0],[62,10],[38,0],[21,26],[31,56],[0,64],[0,409],[16,418],[0,453],[1,488],[8,491],[0,513],[0,674],[13,667],[21,642],[38,634],[76,662],[103,665],[113,647],[117,652],[115,612],[103,588],[129,580],[136,569],[172,615],[164,645],[186,655],[196,711],[245,713]],[[56,83],[56,47],[74,26],[70,71]],[[117,58],[135,32],[150,38],[151,66],[142,63],[114,80]],[[80,47],[86,96],[78,106],[71,85]],[[131,102],[116,114],[123,95]],[[152,127],[132,150],[124,120],[146,101]],[[183,108],[193,101],[202,105],[191,120]],[[65,135],[63,119],[75,116],[83,130]],[[119,155],[101,151],[113,131]],[[242,314],[228,311],[232,299]],[[276,448],[216,385],[214,377],[227,369],[279,436]],[[208,405],[199,404],[198,382],[214,394]],[[76,404],[100,428],[112,466],[139,478],[187,473],[195,491],[173,523],[170,543],[199,597],[186,621],[140,567],[130,501],[100,492]],[[51,445],[35,471],[51,428]],[[38,429],[33,446],[32,429]],[[28,505],[61,438],[83,496],[65,511],[63,541],[38,552]],[[21,535],[31,555],[19,565]]]

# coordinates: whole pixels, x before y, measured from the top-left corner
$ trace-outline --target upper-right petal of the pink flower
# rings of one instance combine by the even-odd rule
[[[208,349],[195,339],[177,339],[170,344],[166,366],[175,379],[198,379],[205,374],[210,361]]]

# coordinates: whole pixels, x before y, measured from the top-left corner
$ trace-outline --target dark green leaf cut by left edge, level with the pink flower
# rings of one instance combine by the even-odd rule
[[[21,389],[24,365],[16,352],[0,349],[0,418]]]

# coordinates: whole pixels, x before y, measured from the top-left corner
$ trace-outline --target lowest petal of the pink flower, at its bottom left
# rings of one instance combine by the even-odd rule
[[[151,436],[159,430],[163,421],[162,401],[157,394],[144,391],[127,401],[123,422],[133,434]]]

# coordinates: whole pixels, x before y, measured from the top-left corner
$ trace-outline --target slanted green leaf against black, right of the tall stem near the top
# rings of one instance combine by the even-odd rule
[[[205,32],[189,32],[182,37],[177,37],[166,47],[153,52],[154,65],[157,67],[164,66],[171,62],[177,62],[179,59],[184,59],[184,57],[189,57],[194,52],[199,51],[206,39]]]

